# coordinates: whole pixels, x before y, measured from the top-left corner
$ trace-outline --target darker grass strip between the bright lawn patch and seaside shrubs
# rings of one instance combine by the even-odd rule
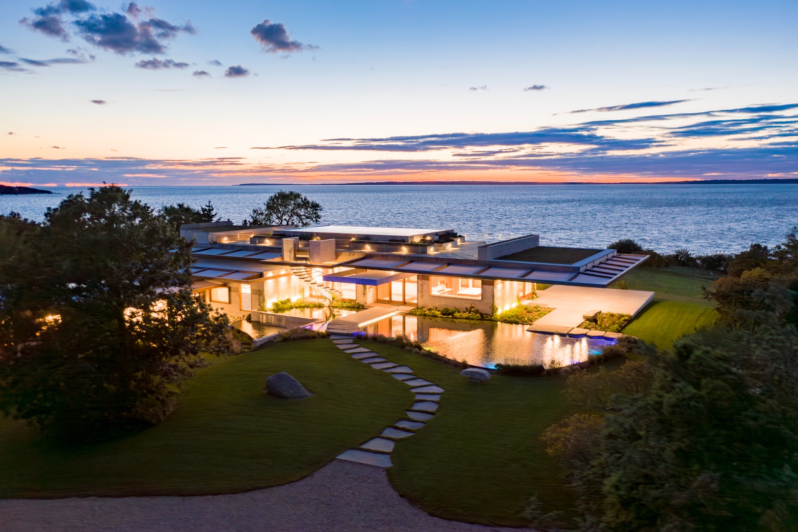
[[[657,292],[656,299],[688,301],[706,307],[712,304],[705,300],[701,287],[713,283],[717,275],[697,268],[634,268],[623,276],[630,290]]]

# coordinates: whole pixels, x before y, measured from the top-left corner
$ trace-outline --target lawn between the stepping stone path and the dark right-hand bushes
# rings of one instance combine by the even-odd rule
[[[446,390],[440,414],[397,443],[388,470],[397,491],[430,514],[460,521],[519,526],[531,495],[552,510],[573,501],[563,470],[539,435],[571,413],[565,379],[495,375],[468,383],[455,367],[381,343],[366,347],[406,363]]]

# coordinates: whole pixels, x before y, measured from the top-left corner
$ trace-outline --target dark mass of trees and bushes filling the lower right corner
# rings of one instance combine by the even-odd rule
[[[591,413],[543,441],[578,494],[579,530],[796,530],[798,332],[773,308],[750,311],[753,330],[718,324],[569,379]]]

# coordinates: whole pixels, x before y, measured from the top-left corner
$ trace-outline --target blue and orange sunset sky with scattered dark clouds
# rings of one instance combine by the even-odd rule
[[[3,0],[0,183],[798,177],[798,2]]]

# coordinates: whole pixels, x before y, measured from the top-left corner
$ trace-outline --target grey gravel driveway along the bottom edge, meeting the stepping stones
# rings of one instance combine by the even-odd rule
[[[199,497],[0,500],[3,532],[511,532],[433,518],[385,470],[334,460],[298,482]]]

